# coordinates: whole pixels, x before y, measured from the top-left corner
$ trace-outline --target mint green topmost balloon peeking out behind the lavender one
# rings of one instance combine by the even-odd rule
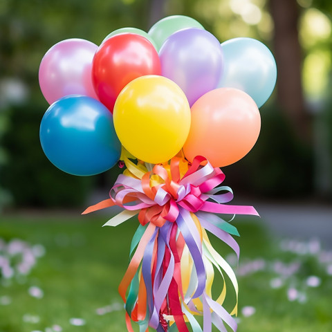
[[[199,28],[204,30],[203,26],[191,17],[174,15],[160,19],[149,30],[149,35],[157,44],[157,50],[160,50],[165,40],[179,30],[186,28]]]

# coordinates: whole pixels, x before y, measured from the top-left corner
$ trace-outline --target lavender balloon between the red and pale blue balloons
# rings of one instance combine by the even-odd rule
[[[219,41],[208,31],[185,29],[167,38],[159,52],[162,75],[184,91],[190,106],[216,89],[223,70]]]

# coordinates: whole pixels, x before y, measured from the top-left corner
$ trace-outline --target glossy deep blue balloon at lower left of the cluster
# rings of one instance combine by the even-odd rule
[[[71,95],[50,105],[39,136],[50,162],[69,174],[99,174],[120,158],[112,114],[90,97]]]

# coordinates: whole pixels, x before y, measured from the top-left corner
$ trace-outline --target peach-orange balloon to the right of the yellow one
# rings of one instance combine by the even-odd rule
[[[183,152],[190,161],[205,156],[214,167],[227,166],[248,154],[260,127],[259,109],[247,93],[215,89],[192,106],[192,124]]]

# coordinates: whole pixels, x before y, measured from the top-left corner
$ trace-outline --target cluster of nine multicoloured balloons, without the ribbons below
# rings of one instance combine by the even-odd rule
[[[255,145],[259,107],[276,80],[273,54],[257,39],[220,42],[183,15],[148,32],[116,29],[100,46],[66,39],[39,67],[50,103],[42,148],[59,169],[80,176],[107,171],[121,149],[150,164],[204,156],[225,167]]]

